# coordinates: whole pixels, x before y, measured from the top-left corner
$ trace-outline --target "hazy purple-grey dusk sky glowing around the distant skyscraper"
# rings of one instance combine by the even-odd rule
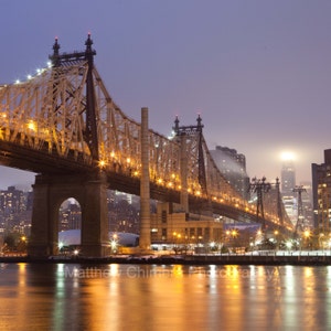
[[[328,0],[2,0],[0,83],[84,50],[115,102],[168,136],[175,116],[201,114],[210,149],[246,156],[250,177],[280,177],[284,151],[297,183],[331,148],[331,1]],[[0,167],[0,189],[34,174]]]

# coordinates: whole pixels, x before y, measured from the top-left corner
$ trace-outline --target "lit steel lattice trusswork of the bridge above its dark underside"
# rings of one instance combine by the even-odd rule
[[[139,180],[140,124],[127,117],[107,92],[93,65],[95,51],[89,35],[85,45],[85,52],[60,55],[56,40],[50,67],[39,71],[26,82],[0,86],[0,141],[58,160],[70,157],[72,163],[84,164],[87,169],[99,168],[106,173]],[[92,106],[93,116],[88,111]],[[175,125],[179,129],[178,122]],[[160,190],[180,192],[181,145],[178,137],[185,135],[188,194],[255,215],[254,206],[228,184],[213,161],[200,117],[197,127],[197,130],[182,127],[173,139],[149,130],[151,183]],[[271,223],[290,228],[289,222],[278,220],[277,209],[271,212],[266,205],[265,211]]]

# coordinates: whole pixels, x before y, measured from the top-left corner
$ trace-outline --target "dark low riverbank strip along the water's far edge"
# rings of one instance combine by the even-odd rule
[[[331,255],[164,255],[164,256],[109,256],[104,258],[63,257],[32,258],[29,256],[0,257],[0,263],[35,264],[157,264],[157,265],[293,265],[328,266]]]

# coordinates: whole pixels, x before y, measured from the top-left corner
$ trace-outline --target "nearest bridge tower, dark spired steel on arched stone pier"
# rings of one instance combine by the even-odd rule
[[[84,52],[60,54],[57,39],[50,56],[54,77],[65,72],[66,66],[73,63],[86,62],[87,75],[85,78],[85,102],[81,105],[81,114],[85,116],[84,140],[89,149],[94,171],[87,173],[52,173],[42,172],[36,175],[33,185],[34,201],[32,212],[31,241],[29,255],[42,257],[57,254],[58,252],[58,209],[61,203],[75,197],[82,211],[82,254],[89,257],[103,257],[109,246],[107,221],[107,178],[99,168],[98,135],[96,122],[96,100],[94,89],[94,56],[90,34],[85,42]],[[54,79],[54,82],[57,82]],[[51,85],[52,86],[52,85]],[[61,100],[57,85],[53,83],[53,105],[50,116],[61,116],[61,108],[65,107],[65,99]],[[74,90],[66,90],[73,95]],[[61,118],[60,118],[61,119]],[[70,124],[66,124],[70,125]]]

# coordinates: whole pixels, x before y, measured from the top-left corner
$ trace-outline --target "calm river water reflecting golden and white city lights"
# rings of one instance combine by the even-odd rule
[[[0,330],[331,330],[331,266],[0,264]]]

